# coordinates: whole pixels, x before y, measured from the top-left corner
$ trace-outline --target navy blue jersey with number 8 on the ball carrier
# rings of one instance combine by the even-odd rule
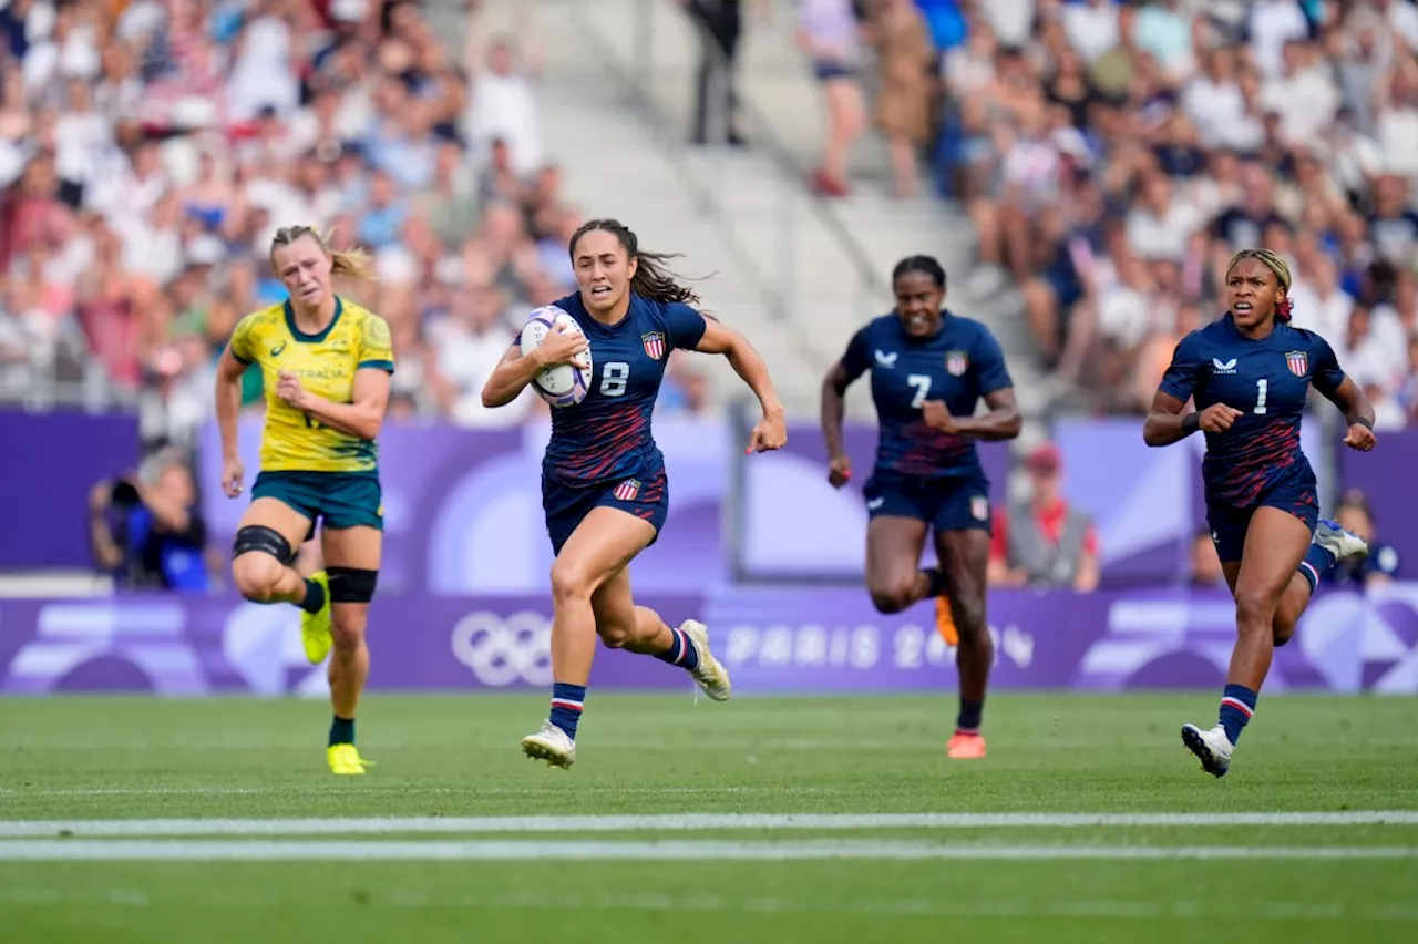
[[[580,295],[554,303],[576,319],[591,344],[591,388],[574,407],[552,411],[552,442],[542,473],[559,482],[597,485],[644,473],[661,461],[649,417],[675,347],[693,349],[705,316],[678,302],[631,295],[615,325],[591,318]]]

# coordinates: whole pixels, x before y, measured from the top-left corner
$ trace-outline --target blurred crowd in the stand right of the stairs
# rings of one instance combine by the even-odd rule
[[[1418,421],[1418,6],[1409,0],[919,0],[946,48],[942,181],[974,286],[1022,288],[1041,357],[1144,411],[1219,272],[1296,272],[1378,428]]]

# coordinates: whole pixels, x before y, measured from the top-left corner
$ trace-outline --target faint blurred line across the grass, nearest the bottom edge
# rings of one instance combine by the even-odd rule
[[[278,893],[231,896],[203,900],[214,906],[242,909],[272,909],[291,901]],[[146,892],[139,889],[75,889],[75,886],[0,889],[0,907],[163,907],[194,904],[187,894]],[[1224,918],[1271,921],[1418,921],[1418,906],[1378,904],[1356,906],[1346,901],[1255,901],[1245,899],[1227,906],[1218,901],[1129,901],[1119,899],[1069,899],[1065,901],[1020,899],[858,899],[830,901],[801,897],[729,897],[719,894],[559,894],[553,897],[533,893],[468,894],[427,892],[374,892],[369,907],[389,909],[462,909],[484,911],[563,910],[563,911],[699,911],[699,913],[787,913],[787,914],[866,914],[879,917],[1058,917],[1058,918]]]

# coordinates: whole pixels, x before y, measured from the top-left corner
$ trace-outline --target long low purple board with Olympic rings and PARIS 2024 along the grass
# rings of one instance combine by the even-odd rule
[[[674,624],[709,622],[735,693],[937,692],[956,685],[954,653],[932,608],[891,617],[861,590],[725,588],[645,595]],[[995,592],[993,686],[1010,689],[1212,689],[1235,639],[1224,591],[1078,595]],[[142,595],[0,601],[0,693],[129,690],[163,696],[325,693],[301,655],[299,612],[231,598]],[[372,611],[374,690],[547,689],[546,595],[381,595]],[[601,649],[591,686],[683,689],[679,669]],[[1323,594],[1295,644],[1276,651],[1266,693],[1418,695],[1418,584],[1363,597]]]

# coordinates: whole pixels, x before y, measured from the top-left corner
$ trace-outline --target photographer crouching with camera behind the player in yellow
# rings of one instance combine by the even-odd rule
[[[96,483],[89,539],[98,568],[125,590],[207,591],[207,524],[179,449],[153,454],[136,475]]]

